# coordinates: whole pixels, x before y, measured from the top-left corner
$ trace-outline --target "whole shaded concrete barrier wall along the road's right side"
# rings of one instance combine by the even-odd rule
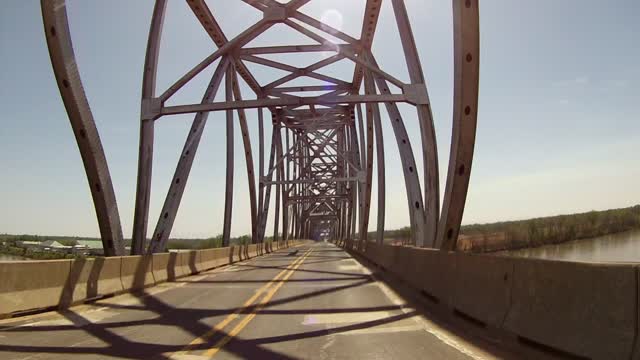
[[[628,359],[638,347],[639,268],[367,244],[367,258],[461,314],[559,354]]]

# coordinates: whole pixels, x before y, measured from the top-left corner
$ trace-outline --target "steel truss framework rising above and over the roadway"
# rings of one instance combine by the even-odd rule
[[[237,155],[233,151],[233,142],[235,126],[238,124],[249,177],[253,242],[264,241],[267,218],[273,216],[273,235],[276,238],[332,238],[359,248],[370,240],[381,243],[386,186],[383,138],[392,136],[400,154],[412,243],[422,247],[454,249],[475,142],[478,1],[453,0],[454,115],[442,209],[433,116],[404,1],[363,0],[364,17],[357,37],[305,12],[308,3],[320,0],[236,1],[250,5],[253,8],[251,11],[260,12],[261,17],[232,38],[225,34],[216,19],[215,8],[204,0],[186,1],[195,15],[194,19],[209,35],[216,50],[169,88],[156,93],[160,41],[167,12],[167,0],[156,0],[143,72],[132,253],[153,253],[166,249],[208,114],[213,111],[226,114],[225,243],[230,237],[233,187],[237,185],[233,176],[234,157]],[[409,82],[403,82],[392,75],[389,69],[381,68],[372,51],[383,1],[391,3],[396,22],[394,31],[398,32],[403,50],[397,56],[405,60]],[[75,59],[64,5],[64,0],[42,0],[50,55],[92,185],[106,253],[122,254],[122,230],[109,170],[80,78],[77,70],[73,70]],[[276,26],[284,26],[313,43],[251,45],[253,40]],[[299,56],[317,53],[329,55],[304,66],[295,65],[295,61],[280,60],[289,54]],[[278,60],[272,55],[278,55]],[[338,62],[352,64],[354,70],[349,79],[325,73],[332,64]],[[285,75],[271,82],[260,82],[252,72],[256,64],[283,71]],[[175,104],[173,95],[209,67],[215,67],[215,71],[202,101]],[[69,69],[75,73],[69,74]],[[241,91],[246,87],[252,92],[248,96]],[[216,100],[218,93],[224,94],[223,101]],[[173,101],[171,105],[168,103],[170,99]],[[412,145],[409,141],[399,103],[407,103],[415,108],[420,125],[419,144]],[[249,115],[249,109],[254,109],[252,111],[257,114],[255,118]],[[155,230],[152,237],[147,239],[154,126],[157,121],[175,114],[193,114],[193,122]],[[264,124],[269,118],[272,124],[270,149],[265,149]],[[254,121],[258,122],[259,129],[257,171],[254,168],[256,154],[252,151],[252,141],[255,139],[251,138],[248,130],[248,123]],[[383,134],[385,121],[390,123],[392,129],[388,134]],[[421,156],[424,165],[421,174],[418,174],[416,167],[416,153]],[[376,174],[373,173],[374,163]],[[378,194],[376,204],[372,204],[374,175]],[[423,179],[424,188],[419,176]],[[274,214],[270,215],[272,201],[275,203]],[[370,219],[372,205],[377,208],[375,220]],[[374,222],[377,229],[375,239],[368,239],[370,223],[373,225]]]

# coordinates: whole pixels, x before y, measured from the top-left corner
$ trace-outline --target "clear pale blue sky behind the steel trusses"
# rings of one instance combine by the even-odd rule
[[[302,10],[320,17],[323,10],[334,9],[325,17],[355,35],[362,3],[314,0]],[[451,4],[406,3],[428,81],[444,191],[452,112]],[[247,8],[239,0],[209,4],[230,37],[259,17],[250,9],[241,12]],[[152,7],[150,0],[68,1],[76,56],[109,161],[125,236],[131,234],[133,219],[141,70]],[[374,55],[384,69],[406,80],[390,10],[390,2],[384,1]],[[638,14],[637,0],[481,1],[478,136],[464,223],[640,203]],[[305,41],[276,31],[254,44],[297,40]],[[159,90],[213,49],[186,3],[171,0]],[[84,170],[51,70],[39,1],[4,4],[0,59],[0,233],[97,236]],[[340,76],[349,66],[336,65],[334,70]],[[211,72],[176,94],[176,101],[198,102]],[[277,75],[259,71],[256,77],[264,82]],[[248,90],[244,94],[249,97]],[[415,149],[414,113],[404,107],[403,114]],[[255,113],[249,115],[255,119]],[[157,122],[150,231],[190,118]],[[224,117],[213,114],[209,119],[173,236],[222,231]],[[255,148],[257,130],[255,121],[250,123]],[[386,227],[397,228],[408,224],[404,183],[388,126],[385,134]],[[236,144],[241,154],[239,139]],[[243,162],[236,163],[234,235],[250,231]],[[375,209],[371,216],[375,219]],[[375,221],[371,223],[375,227]]]

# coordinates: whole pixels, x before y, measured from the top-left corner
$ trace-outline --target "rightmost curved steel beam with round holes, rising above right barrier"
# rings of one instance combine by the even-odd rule
[[[453,1],[453,130],[437,246],[455,250],[469,189],[478,120],[480,74],[478,0]]]

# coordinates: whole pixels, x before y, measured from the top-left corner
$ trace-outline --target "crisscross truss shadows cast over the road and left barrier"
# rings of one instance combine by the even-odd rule
[[[332,254],[338,253],[339,256],[332,256]],[[233,265],[233,273],[242,274],[246,273],[246,276],[250,279],[217,279],[220,277],[218,273],[207,275],[204,279],[197,279],[190,281],[188,278],[174,281],[176,274],[168,274],[169,279],[174,281],[177,286],[187,285],[192,289],[192,294],[196,294],[198,291],[202,291],[202,287],[213,286],[210,290],[225,291],[225,287],[229,285],[243,285],[250,286],[255,284],[256,286],[262,283],[267,283],[271,280],[262,279],[261,274],[265,270],[281,271],[287,269],[290,264],[292,256],[296,256],[295,252],[276,252],[269,257],[258,258],[251,262],[238,263]],[[287,263],[279,265],[271,265],[272,263],[281,262],[283,259],[287,259]],[[371,313],[371,312],[398,312],[402,309],[401,305],[381,305],[381,306],[364,306],[364,307],[337,307],[337,308],[300,308],[300,309],[275,309],[278,305],[301,303],[304,300],[330,294],[340,294],[341,296],[347,296],[346,292],[360,288],[362,286],[370,285],[375,282],[375,279],[368,274],[357,273],[353,271],[326,271],[310,269],[309,265],[312,264],[330,264],[335,262],[341,262],[345,259],[351,259],[350,256],[341,250],[333,250],[332,248],[324,248],[317,250],[309,256],[304,265],[296,270],[296,273],[301,274],[298,278],[292,278],[287,280],[287,283],[299,283],[299,284],[316,284],[318,282],[333,283],[340,282],[339,285],[325,286],[320,288],[314,288],[309,286],[309,291],[304,291],[300,294],[285,296],[277,299],[272,299],[264,307],[259,308],[255,303],[247,307],[224,307],[216,306],[214,308],[189,308],[182,307],[184,303],[180,305],[172,305],[167,301],[163,301],[163,294],[169,294],[171,292],[179,292],[182,287],[170,288],[167,291],[163,291],[159,294],[153,294],[148,290],[145,290],[145,274],[149,266],[149,260],[143,257],[138,265],[138,271],[134,277],[134,288],[138,289],[131,293],[134,304],[122,304],[118,301],[110,301],[112,299],[98,300],[94,305],[100,306],[102,309],[114,312],[127,312],[127,311],[144,311],[150,313],[142,319],[129,319],[119,321],[93,321],[91,316],[76,311],[74,308],[68,310],[60,310],[58,314],[63,320],[62,323],[54,321],[53,324],[48,321],[40,321],[28,326],[15,327],[0,325],[0,335],[4,335],[6,339],[11,341],[15,336],[29,336],[31,339],[36,339],[29,345],[16,345],[7,343],[7,340],[3,340],[3,336],[0,336],[0,355],[12,354],[20,355],[25,354],[44,354],[46,356],[55,355],[91,355],[91,356],[112,356],[126,359],[169,359],[166,354],[173,352],[179,352],[187,344],[157,344],[147,343],[139,340],[132,340],[127,338],[127,335],[131,331],[140,327],[157,328],[160,326],[167,326],[178,328],[182,332],[188,333],[193,338],[198,338],[203,334],[209,332],[212,328],[211,324],[205,323],[203,320],[212,317],[225,317],[229,314],[239,312],[240,315],[246,315],[256,312],[259,315],[310,315],[310,314],[344,314],[344,313]],[[146,260],[146,261],[145,261]],[[170,258],[170,261],[175,262],[175,256]],[[193,261],[195,264],[195,258]],[[78,262],[72,269],[72,274],[69,277],[65,290],[61,297],[61,304],[71,303],[71,295],[73,293],[74,285],[77,283],[80,271],[82,270],[82,262]],[[195,265],[194,265],[195,266]],[[175,267],[170,267],[175,268]],[[333,268],[333,267],[332,267]],[[100,263],[96,264],[96,274],[99,274]],[[253,275],[255,274],[255,276]],[[305,277],[304,274],[312,274],[314,277]],[[93,276],[97,279],[97,275],[93,272],[90,277]],[[255,279],[253,278],[255,277]],[[92,283],[90,281],[90,283]],[[93,282],[95,284],[95,282]],[[87,295],[91,295],[95,292],[94,287],[87,287]],[[118,299],[118,298],[114,298]],[[244,300],[240,298],[239,300]],[[215,301],[215,293],[212,296],[212,301]],[[187,301],[188,302],[188,301]],[[90,310],[92,311],[92,310]],[[114,315],[116,317],[119,314]],[[400,312],[397,314],[389,315],[384,318],[360,321],[356,323],[349,323],[346,325],[339,324],[337,326],[327,329],[314,329],[310,331],[294,332],[286,335],[265,335],[260,337],[254,337],[251,339],[243,339],[242,337],[232,337],[232,340],[224,347],[224,351],[230,354],[242,358],[251,359],[293,359],[287,354],[277,352],[265,347],[268,344],[276,344],[281,342],[296,341],[302,339],[310,339],[316,337],[323,337],[332,334],[346,333],[354,330],[364,330],[377,327],[380,325],[391,324],[403,319],[409,319],[418,315],[418,311],[411,310]],[[217,321],[217,320],[216,320]],[[51,344],[51,341],[47,340],[47,334],[51,332],[84,332],[84,338],[81,342],[74,344],[74,346],[68,346],[69,344]],[[230,334],[225,330],[216,331],[213,336],[206,339],[205,342],[190,347],[190,352],[196,352],[200,350],[209,349],[212,344],[215,344],[220,339]],[[38,340],[39,339],[39,340]],[[42,344],[38,344],[42,342]],[[87,346],[89,343],[103,343],[104,346]],[[84,344],[84,345],[83,345]],[[4,358],[4,356],[0,356]]]

